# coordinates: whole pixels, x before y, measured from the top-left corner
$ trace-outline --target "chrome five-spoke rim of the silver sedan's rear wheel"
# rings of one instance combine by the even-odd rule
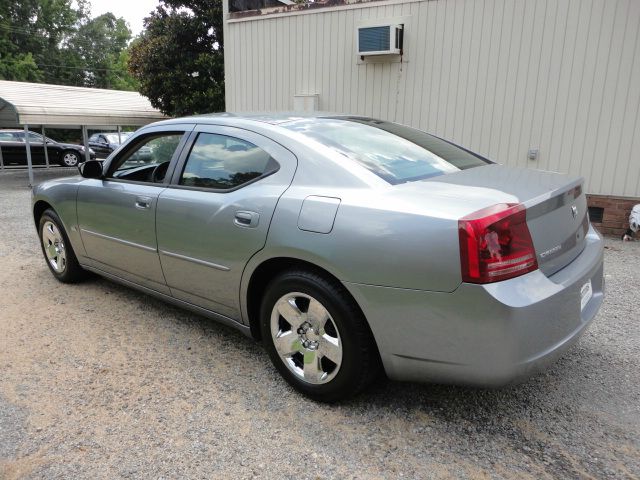
[[[271,311],[271,338],[282,362],[297,378],[328,383],[342,364],[342,340],[329,311],[315,298],[293,292]]]

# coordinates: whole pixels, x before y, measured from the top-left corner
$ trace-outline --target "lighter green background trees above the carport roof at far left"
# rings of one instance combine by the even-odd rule
[[[90,18],[87,0],[0,0],[1,79],[132,90],[130,39],[122,18]]]

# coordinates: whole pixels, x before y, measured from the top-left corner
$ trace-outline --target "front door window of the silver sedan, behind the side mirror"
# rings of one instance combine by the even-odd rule
[[[115,160],[107,177],[143,182],[163,180],[182,135],[182,132],[171,132],[145,137]],[[161,170],[164,171],[159,175]]]

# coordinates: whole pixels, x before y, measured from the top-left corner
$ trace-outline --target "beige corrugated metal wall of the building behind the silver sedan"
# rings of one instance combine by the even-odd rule
[[[392,17],[405,17],[402,63],[363,63],[357,26]],[[391,0],[225,29],[229,111],[291,110],[294,95],[317,93],[321,110],[640,197],[640,0]]]

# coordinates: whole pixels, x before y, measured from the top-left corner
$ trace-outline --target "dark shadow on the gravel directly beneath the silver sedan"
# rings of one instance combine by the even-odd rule
[[[246,337],[232,327],[98,276],[88,280],[88,283],[100,290],[111,292],[116,297],[139,303],[139,308],[147,310],[151,318],[163,319],[165,327],[180,329],[180,334],[186,335],[186,338],[181,340],[185,344],[194,342],[196,335],[204,335],[212,341],[222,340],[225,348],[231,349],[228,353],[234,353],[235,349],[238,354],[249,353],[258,357],[256,360],[259,363],[248,365],[247,370],[243,371],[244,374],[256,377],[266,374],[271,381],[281,384],[289,395],[311,404],[315,403],[296,393],[279,377],[260,342]],[[380,411],[401,406],[405,411],[424,411],[443,420],[467,419],[478,422],[479,428],[491,423],[489,420],[492,418],[519,418],[531,410],[562,410],[566,414],[572,409],[575,410],[576,400],[585,391],[590,392],[590,395],[600,392],[602,398],[607,396],[607,392],[624,388],[624,385],[629,383],[629,375],[624,369],[611,369],[606,373],[602,371],[602,363],[611,364],[613,359],[603,358],[602,352],[594,351],[593,345],[585,342],[585,337],[548,370],[519,384],[484,389],[394,382],[382,375],[366,391],[338,405],[342,408]],[[215,349],[216,345],[212,344],[211,348]],[[612,403],[610,400],[603,400],[603,403],[605,401]],[[615,411],[615,402],[612,403],[611,409]]]

